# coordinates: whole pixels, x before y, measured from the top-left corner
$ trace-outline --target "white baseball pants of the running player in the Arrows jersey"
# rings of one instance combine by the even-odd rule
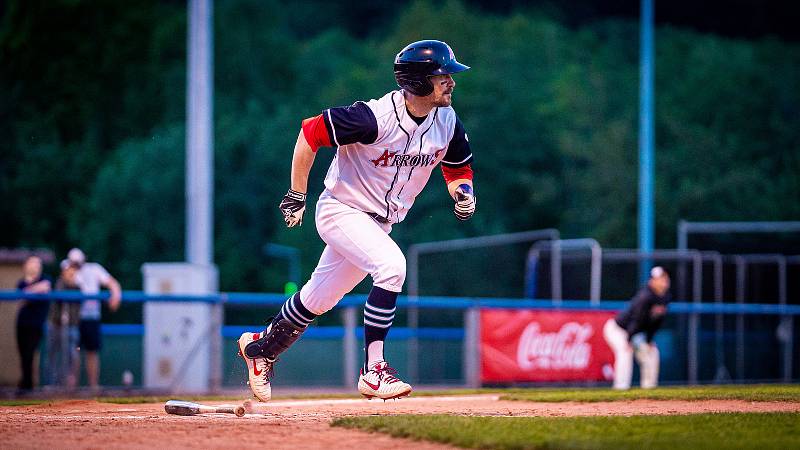
[[[391,224],[380,224],[325,193],[317,202],[315,218],[317,233],[327,245],[300,290],[300,301],[309,311],[317,315],[329,311],[367,274],[375,286],[392,292],[403,289],[406,258],[389,237]]]

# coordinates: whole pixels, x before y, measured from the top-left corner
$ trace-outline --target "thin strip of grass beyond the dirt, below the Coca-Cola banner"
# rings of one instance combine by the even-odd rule
[[[636,399],[800,402],[800,385],[691,386],[629,391],[614,391],[608,388],[515,389],[501,394],[501,398],[529,402],[611,402]]]

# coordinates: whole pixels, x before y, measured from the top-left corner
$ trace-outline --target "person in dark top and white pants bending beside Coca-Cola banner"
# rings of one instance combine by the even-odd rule
[[[639,363],[643,389],[658,386],[659,353],[653,342],[669,303],[669,274],[660,266],[650,270],[647,284],[628,307],[603,327],[603,336],[614,351],[614,389],[629,389],[633,358]]]

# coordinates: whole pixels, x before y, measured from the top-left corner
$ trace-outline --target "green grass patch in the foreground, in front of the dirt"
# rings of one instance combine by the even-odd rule
[[[334,426],[481,449],[800,448],[800,414],[632,417],[370,416]]]

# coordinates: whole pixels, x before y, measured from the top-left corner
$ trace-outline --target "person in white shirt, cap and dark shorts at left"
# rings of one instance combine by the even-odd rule
[[[86,262],[86,255],[78,248],[67,254],[67,261],[78,269],[75,282],[84,295],[100,293],[100,288],[109,290],[108,308],[113,312],[119,308],[122,300],[122,288],[119,282],[98,263]],[[86,376],[92,390],[99,388],[100,356],[102,347],[100,334],[100,300],[90,299],[81,303],[80,309],[80,348],[86,352]],[[76,365],[80,371],[80,363]],[[77,373],[75,374],[78,375]]]

